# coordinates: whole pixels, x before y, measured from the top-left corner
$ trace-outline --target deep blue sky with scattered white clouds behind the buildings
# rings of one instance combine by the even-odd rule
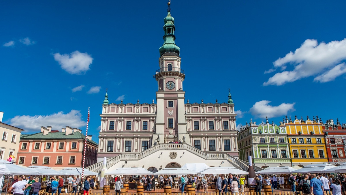
[[[346,123],[345,1],[171,2],[190,103],[227,102],[237,124],[318,115]],[[97,141],[110,103],[155,99],[167,1],[2,1],[3,122],[71,126]],[[156,99],[155,99],[156,100]]]

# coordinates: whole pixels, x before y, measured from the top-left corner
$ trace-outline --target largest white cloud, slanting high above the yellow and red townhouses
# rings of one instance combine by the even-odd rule
[[[281,86],[286,82],[294,82],[301,78],[315,76],[327,69],[334,69],[336,64],[345,59],[346,38],[342,41],[321,42],[320,44],[315,39],[307,39],[294,52],[290,52],[274,62],[274,68],[284,70],[287,64],[293,64],[294,69],[276,73],[263,85]]]

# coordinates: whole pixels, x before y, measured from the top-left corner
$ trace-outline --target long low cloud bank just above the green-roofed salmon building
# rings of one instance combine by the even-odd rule
[[[79,110],[71,110],[67,114],[58,112],[46,116],[15,116],[10,119],[10,124],[24,129],[25,133],[27,133],[30,131],[40,131],[41,126],[53,126],[54,130],[60,130],[65,126],[80,128],[85,126],[86,122],[82,121],[82,114]]]

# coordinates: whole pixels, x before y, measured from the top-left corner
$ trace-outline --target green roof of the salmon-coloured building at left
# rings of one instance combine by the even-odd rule
[[[56,140],[56,139],[85,139],[85,135],[83,135],[80,132],[74,132],[70,135],[65,135],[65,132],[61,131],[54,131],[49,132],[47,135],[43,135],[43,132],[40,133],[34,133],[34,134],[21,134],[20,135],[21,140]],[[89,140],[89,142],[99,145],[98,143]]]

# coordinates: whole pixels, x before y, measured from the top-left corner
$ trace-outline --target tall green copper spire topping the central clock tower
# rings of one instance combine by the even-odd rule
[[[160,56],[162,56],[164,53],[167,52],[174,52],[179,55],[180,48],[176,46],[174,40],[174,18],[171,16],[171,3],[168,3],[168,9],[167,9],[167,16],[163,20],[165,22],[165,25],[163,25],[163,30],[165,31],[165,35],[163,36],[163,45],[158,49],[160,51]]]

